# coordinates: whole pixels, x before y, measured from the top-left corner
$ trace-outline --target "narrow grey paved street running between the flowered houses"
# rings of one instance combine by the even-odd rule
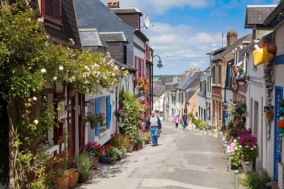
[[[95,182],[91,180],[79,188],[234,188],[216,137],[162,125],[158,146],[148,144],[130,156],[127,153],[129,157],[109,165],[112,168]]]

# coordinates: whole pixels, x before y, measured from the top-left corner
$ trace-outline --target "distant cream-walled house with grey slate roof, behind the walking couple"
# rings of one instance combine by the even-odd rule
[[[194,113],[197,112],[197,104],[198,98],[197,94],[195,93],[199,91],[199,81],[200,81],[200,74],[203,72],[194,70],[191,74],[188,74],[180,83],[176,89],[176,114],[182,116],[184,113],[188,114],[191,112],[191,108],[193,104],[195,104]],[[193,93],[193,90],[189,89],[197,89],[194,90],[193,95],[189,95]],[[188,96],[189,95],[189,96]]]

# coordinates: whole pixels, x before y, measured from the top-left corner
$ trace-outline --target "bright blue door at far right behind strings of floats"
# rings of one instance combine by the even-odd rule
[[[279,106],[278,101],[280,99],[283,99],[283,87],[275,86],[275,108],[274,108],[274,171],[273,171],[273,177],[278,182],[278,163],[281,162],[281,152],[278,151],[279,146],[279,133],[278,133],[278,127],[277,127],[277,121],[280,117]],[[282,146],[282,145],[281,145]]]

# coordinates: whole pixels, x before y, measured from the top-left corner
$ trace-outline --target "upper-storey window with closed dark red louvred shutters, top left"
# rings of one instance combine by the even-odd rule
[[[42,17],[61,25],[61,0],[42,0]]]

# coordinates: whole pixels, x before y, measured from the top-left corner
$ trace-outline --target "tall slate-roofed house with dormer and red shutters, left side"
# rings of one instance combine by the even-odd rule
[[[133,94],[138,94],[137,98],[145,100],[145,93],[140,93],[138,87],[136,88],[136,79],[146,77],[145,53],[149,39],[139,28],[126,23],[99,0],[74,0],[74,5],[78,24],[84,29],[96,28],[101,36],[105,37],[107,49],[112,52],[111,55],[138,70],[133,78],[129,78],[130,85],[134,86]],[[115,5],[119,8],[119,2]],[[138,12],[142,16],[141,11]],[[133,17],[133,23],[139,23],[140,16]],[[130,89],[132,87],[125,88],[126,91]]]

